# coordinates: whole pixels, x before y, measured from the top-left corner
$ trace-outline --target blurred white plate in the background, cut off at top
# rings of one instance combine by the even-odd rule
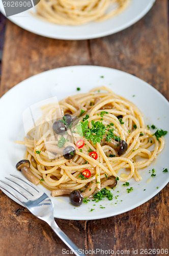
[[[153,6],[155,0],[132,0],[121,14],[104,22],[92,22],[82,26],[60,26],[44,22],[34,17],[30,10],[10,16],[9,19],[19,27],[38,35],[67,40],[98,38],[119,32],[142,18]],[[0,10],[5,14],[2,1]],[[31,11],[35,12],[35,8]]]

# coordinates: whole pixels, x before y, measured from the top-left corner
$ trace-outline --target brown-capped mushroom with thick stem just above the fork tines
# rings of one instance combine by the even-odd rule
[[[17,170],[21,170],[22,174],[32,183],[35,185],[38,185],[40,183],[40,180],[31,172],[30,170],[30,161],[29,160],[20,160],[16,164]]]

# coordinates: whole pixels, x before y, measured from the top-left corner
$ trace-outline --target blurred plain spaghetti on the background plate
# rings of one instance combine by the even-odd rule
[[[124,11],[130,0],[41,0],[36,16],[60,25],[101,22]]]

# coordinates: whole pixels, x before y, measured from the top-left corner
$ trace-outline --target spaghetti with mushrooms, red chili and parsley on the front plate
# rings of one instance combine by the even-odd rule
[[[147,128],[132,102],[105,87],[67,97],[57,107],[45,105],[42,110],[36,127],[24,142],[17,143],[26,146],[24,159],[31,162],[32,173],[53,196],[80,189],[86,197],[107,185],[115,186],[117,180],[133,177],[139,181],[141,170],[165,144],[162,136],[156,138]],[[65,131],[56,131],[58,124]],[[64,153],[67,148],[74,150]]]

